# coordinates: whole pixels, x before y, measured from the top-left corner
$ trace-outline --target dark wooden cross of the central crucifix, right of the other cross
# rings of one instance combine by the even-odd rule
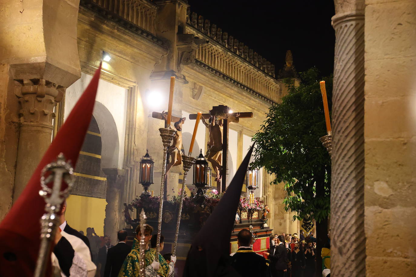
[[[210,113],[203,113],[202,118],[208,119],[211,115],[223,119],[223,162],[222,162],[222,179],[219,191],[224,192],[227,186],[228,175],[227,175],[227,166],[228,166],[228,130],[229,122],[238,123],[240,118],[253,118],[253,113],[229,113],[230,108],[224,105],[218,105],[210,110]],[[218,115],[220,114],[220,115]],[[221,115],[222,114],[222,115]],[[228,115],[228,116],[227,116]],[[189,119],[196,119],[197,114],[189,115]]]

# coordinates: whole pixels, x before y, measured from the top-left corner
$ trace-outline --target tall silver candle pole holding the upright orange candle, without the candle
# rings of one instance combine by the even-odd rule
[[[162,164],[162,178],[160,184],[160,196],[159,196],[159,214],[158,214],[158,226],[157,226],[157,239],[156,239],[156,255],[155,261],[159,260],[159,248],[160,248],[160,233],[162,229],[162,211],[163,211],[163,197],[165,196],[165,173],[166,173],[166,159],[168,158],[168,147],[171,145],[171,141],[176,134],[175,130],[170,128],[159,128],[160,136],[163,142],[163,164]]]

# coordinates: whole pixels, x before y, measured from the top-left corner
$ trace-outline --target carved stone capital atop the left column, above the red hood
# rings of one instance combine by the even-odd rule
[[[22,124],[43,125],[52,128],[55,117],[54,107],[61,101],[65,88],[45,79],[16,80],[15,95],[19,99],[19,116]]]

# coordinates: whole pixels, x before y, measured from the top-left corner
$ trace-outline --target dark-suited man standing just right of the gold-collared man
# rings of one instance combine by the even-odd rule
[[[272,277],[283,277],[287,272],[287,250],[285,247],[285,237],[280,235],[277,237],[274,247],[270,247],[268,259],[270,260],[270,271]]]

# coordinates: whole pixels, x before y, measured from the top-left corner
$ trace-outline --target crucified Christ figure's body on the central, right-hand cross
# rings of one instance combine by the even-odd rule
[[[223,154],[223,126],[220,125],[220,118],[211,116],[209,118],[210,142],[212,143],[208,153],[208,161],[212,164],[217,173],[215,181],[221,180],[222,154]]]

